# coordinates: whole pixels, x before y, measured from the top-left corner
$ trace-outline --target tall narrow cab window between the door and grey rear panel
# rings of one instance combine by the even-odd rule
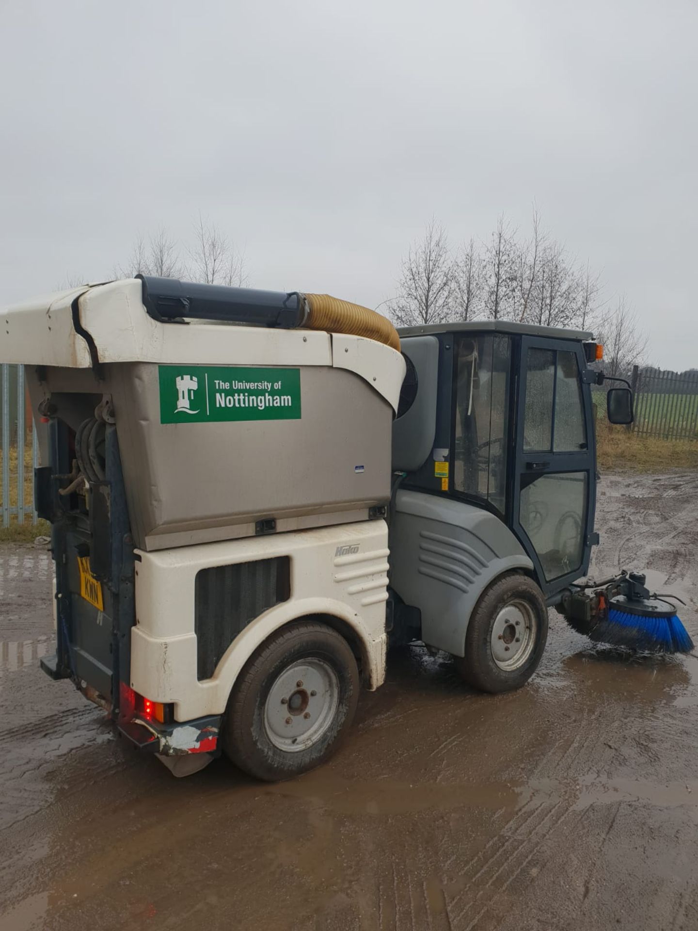
[[[504,513],[511,340],[490,334],[456,341],[453,490]]]

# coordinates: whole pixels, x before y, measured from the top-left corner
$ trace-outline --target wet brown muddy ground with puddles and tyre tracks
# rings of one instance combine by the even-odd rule
[[[599,484],[598,573],[651,566],[698,640],[698,475]],[[323,768],[177,780],[39,671],[49,562],[0,548],[0,928],[698,928],[698,659],[551,614],[522,691],[392,655]]]

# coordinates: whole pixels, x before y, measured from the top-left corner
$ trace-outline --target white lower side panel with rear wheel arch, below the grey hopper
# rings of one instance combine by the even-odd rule
[[[338,555],[338,548],[347,546],[356,551]],[[388,598],[388,528],[383,520],[138,555],[131,687],[152,701],[173,702],[177,721],[221,714],[235,678],[257,647],[279,627],[311,614],[330,614],[352,627],[361,643],[369,688],[383,683]],[[276,556],[290,557],[289,600],[248,624],[212,678],[198,681],[196,573]]]

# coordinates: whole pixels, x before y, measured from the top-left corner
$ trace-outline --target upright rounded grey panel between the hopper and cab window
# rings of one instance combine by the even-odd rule
[[[436,336],[410,337],[402,351],[417,372],[418,391],[409,411],[393,424],[393,468],[415,472],[432,451],[436,434],[438,340]]]

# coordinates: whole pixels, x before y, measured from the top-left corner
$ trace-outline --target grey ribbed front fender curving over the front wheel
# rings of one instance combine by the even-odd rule
[[[397,492],[390,551],[391,585],[421,610],[423,641],[456,656],[485,588],[507,571],[533,569],[502,519],[423,492]]]

